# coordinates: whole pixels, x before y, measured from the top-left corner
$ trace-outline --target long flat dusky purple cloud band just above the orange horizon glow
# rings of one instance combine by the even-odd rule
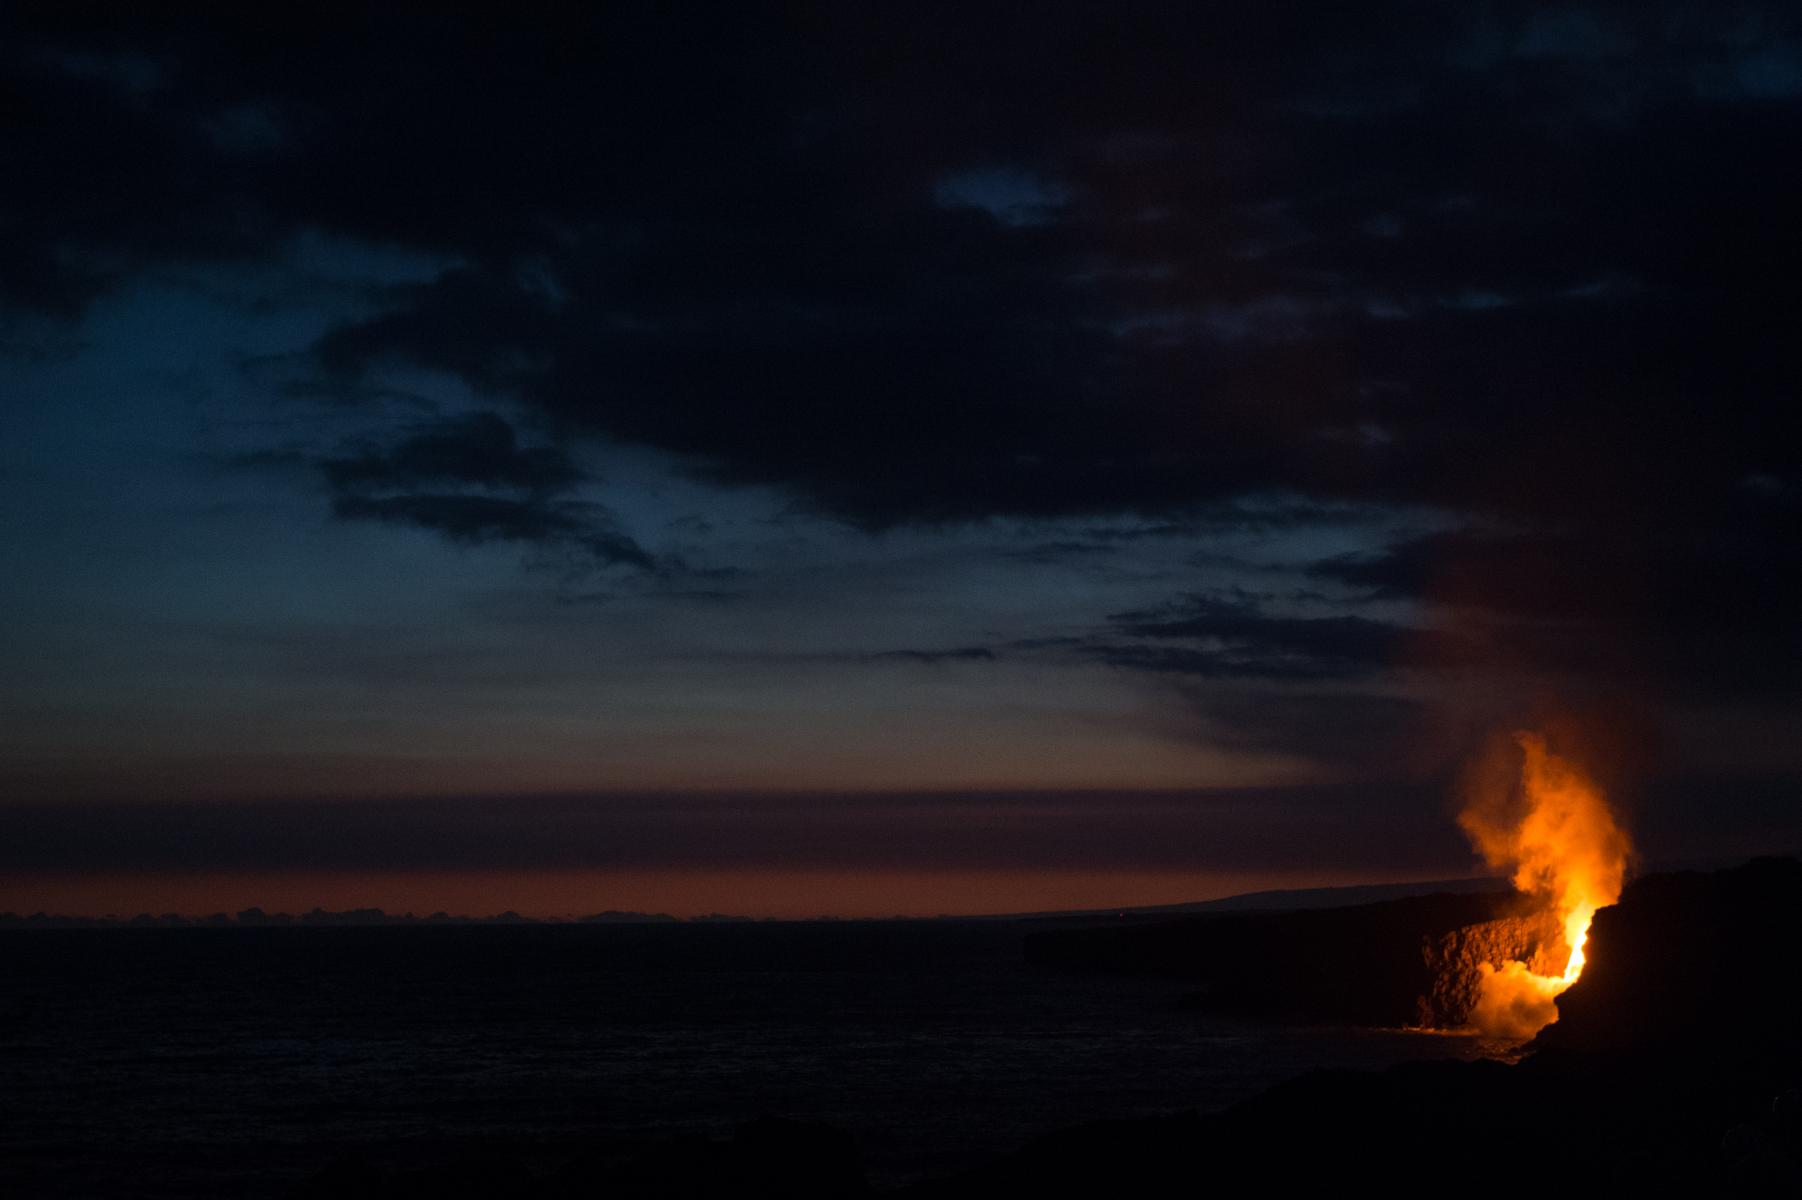
[[[7,809],[0,870],[1458,870],[1458,831],[1418,820],[1438,804],[1362,786],[50,804]]]

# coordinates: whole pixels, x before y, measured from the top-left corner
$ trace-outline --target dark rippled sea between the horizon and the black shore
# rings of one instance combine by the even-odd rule
[[[1027,968],[1015,923],[0,935],[0,1195],[279,1196],[350,1151],[541,1164],[755,1115],[874,1180],[1460,1038],[1269,1029]]]

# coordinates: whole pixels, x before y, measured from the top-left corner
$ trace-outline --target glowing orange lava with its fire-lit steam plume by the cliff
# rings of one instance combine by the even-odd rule
[[[1577,982],[1597,908],[1620,899],[1631,843],[1615,823],[1602,789],[1577,764],[1546,748],[1539,733],[1515,733],[1519,784],[1506,795],[1478,796],[1458,816],[1490,867],[1514,872],[1514,886],[1555,917],[1561,944],[1521,960],[1481,964],[1481,991],[1470,1025],[1494,1038],[1532,1038],[1559,1018],[1557,996]]]

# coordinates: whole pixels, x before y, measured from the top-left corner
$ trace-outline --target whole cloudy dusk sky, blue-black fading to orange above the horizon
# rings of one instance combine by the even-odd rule
[[[0,908],[1797,845],[1793,4],[443,7],[0,16]]]

